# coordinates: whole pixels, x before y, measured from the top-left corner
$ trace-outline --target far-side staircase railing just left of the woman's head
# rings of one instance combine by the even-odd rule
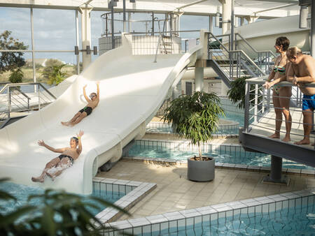
[[[265,71],[265,73],[269,73],[270,68],[274,65],[274,59],[276,57],[276,54],[272,52],[271,50],[262,50],[258,51],[255,50],[255,48],[248,43],[248,40],[243,38],[238,33],[235,33],[235,50],[237,50],[238,47],[244,47],[246,50],[249,50],[251,54],[253,54],[253,61],[255,61],[255,64],[262,69],[262,71]]]

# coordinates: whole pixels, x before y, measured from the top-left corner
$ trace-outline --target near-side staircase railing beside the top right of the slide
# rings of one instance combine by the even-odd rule
[[[242,76],[253,78],[265,75],[244,51],[230,50],[230,34],[214,36],[211,32],[208,33],[208,58],[216,61],[230,80]]]

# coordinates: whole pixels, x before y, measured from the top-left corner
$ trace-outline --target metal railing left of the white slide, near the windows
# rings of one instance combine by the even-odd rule
[[[39,110],[55,101],[56,97],[39,82],[1,83],[0,119],[10,119],[12,112]]]

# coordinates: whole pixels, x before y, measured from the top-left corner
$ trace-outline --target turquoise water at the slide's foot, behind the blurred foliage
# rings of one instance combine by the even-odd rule
[[[27,198],[31,195],[42,194],[44,192],[44,190],[39,187],[25,186],[22,184],[13,184],[10,182],[1,183],[0,189],[5,190],[6,192],[10,193],[11,195],[15,196],[15,198],[18,199],[17,202],[13,200],[10,201],[0,200],[0,212],[2,213],[13,212],[15,209],[18,209],[18,207],[27,205],[27,203],[29,203],[29,205],[38,205],[40,204],[40,201],[37,198],[31,199],[29,202],[27,202]],[[125,194],[110,191],[97,191],[97,193],[93,193],[92,196],[97,196],[113,203],[116,202],[119,198],[125,196]],[[99,204],[98,202],[93,202],[90,199],[86,199],[85,201],[94,203],[95,205],[99,206],[99,208],[97,209],[89,208],[89,211],[94,215],[96,215],[97,213],[101,212],[103,209],[106,208],[103,205]]]

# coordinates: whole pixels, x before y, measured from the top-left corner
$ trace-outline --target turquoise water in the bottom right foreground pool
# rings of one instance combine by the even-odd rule
[[[315,235],[315,206],[238,214],[144,235]]]

